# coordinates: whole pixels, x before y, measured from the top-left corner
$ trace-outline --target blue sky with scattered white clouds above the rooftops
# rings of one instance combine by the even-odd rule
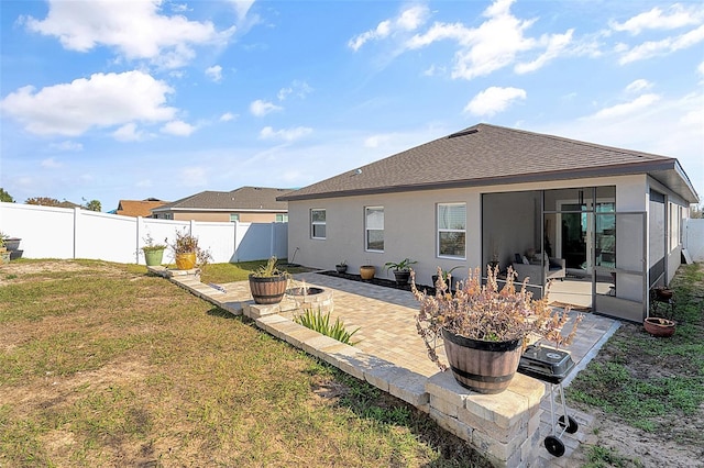
[[[103,211],[295,188],[480,122],[676,157],[698,1],[0,1],[0,187]]]

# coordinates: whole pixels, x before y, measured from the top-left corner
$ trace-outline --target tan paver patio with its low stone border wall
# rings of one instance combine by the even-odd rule
[[[166,274],[160,270],[155,270],[155,272]],[[169,271],[169,274],[172,272]],[[255,308],[250,308],[251,296],[246,281],[226,285],[204,285],[193,275],[175,275],[172,276],[172,280],[232,313],[245,313],[256,319],[257,326],[268,333],[336,365],[348,374],[370,381],[370,383],[431,413],[431,416],[438,416],[438,414],[433,414],[435,406],[441,406],[443,409],[448,405],[452,406],[448,404],[448,401],[452,401],[452,395],[448,397],[448,400],[442,401],[437,398],[433,401],[435,395],[432,392],[428,395],[428,386],[432,387],[435,385],[439,388],[449,387],[450,390],[454,390],[454,388],[451,382],[452,377],[439,372],[437,367],[435,367],[426,356],[424,343],[416,333],[414,315],[417,303],[407,291],[350,281],[342,278],[318,275],[316,272],[295,276],[295,280],[298,282],[305,281],[307,286],[332,290],[334,309],[331,316],[333,319],[339,316],[343,320],[348,330],[360,327],[360,331],[355,335],[355,339],[359,339],[360,343],[350,349],[346,345],[341,345],[338,342],[330,343],[331,338],[322,337],[307,328],[301,330],[300,325],[295,324],[290,319],[293,317],[293,310],[296,308],[296,304],[293,303],[290,299],[286,299],[280,304],[277,313],[257,316],[258,314]],[[619,323],[617,321],[598,315],[585,314],[574,343],[568,347],[568,350],[571,352],[572,358],[576,363],[576,367],[568,379],[563,381],[563,385],[569,385],[569,380],[571,380],[580,369],[586,366],[588,360],[596,355],[598,348],[618,326]],[[442,354],[441,348],[438,350]],[[343,358],[340,358],[340,356],[343,356]],[[392,377],[389,378],[389,376]],[[448,379],[450,382],[447,381]],[[490,419],[496,423],[497,428],[501,428],[498,426],[502,426],[501,421],[503,421],[503,417],[507,419],[506,421],[509,423],[509,428],[512,427],[510,424],[515,422],[515,415],[505,408],[502,408],[510,406],[510,402],[503,401],[502,399],[518,395],[518,398],[525,397],[530,400],[537,394],[535,391],[524,391],[526,388],[530,388],[530,386],[535,388],[536,382],[538,382],[537,380],[522,375],[517,375],[514,380],[516,381],[516,389],[514,389],[514,383],[512,383],[509,390],[504,392],[506,393],[505,395],[488,395],[490,399],[487,399],[484,395],[474,394],[475,397],[481,397],[474,400],[483,401],[480,403],[482,408],[477,406],[476,410],[480,411],[476,412],[486,412],[488,410],[486,410],[485,405],[488,404],[488,406],[491,406],[492,402],[494,403],[496,406],[493,409],[495,413]],[[454,387],[460,389],[454,391],[462,392],[459,386],[454,385]],[[483,442],[481,445],[486,447],[486,455],[499,460],[499,464],[516,466],[516,458],[512,458],[510,454],[517,453],[520,455],[518,459],[532,460],[529,466],[570,466],[570,459],[576,456],[575,449],[580,443],[591,436],[590,428],[593,424],[593,417],[578,411],[572,411],[572,416],[580,424],[579,431],[575,434],[564,434],[562,436],[562,441],[566,446],[564,456],[554,458],[549,455],[542,445],[542,439],[551,432],[550,403],[549,398],[547,398],[549,395],[549,389],[547,385],[540,385],[539,387],[544,387],[546,390],[544,392],[540,391],[538,395],[538,398],[541,398],[540,408],[543,411],[539,413],[539,415],[538,413],[535,415],[531,414],[527,420],[520,420],[516,424],[517,427],[520,426],[521,431],[525,431],[526,426],[528,426],[528,434],[530,434],[530,425],[537,424],[539,421],[539,432],[536,432],[535,436],[529,437],[525,443],[520,444],[520,446],[512,445],[514,438],[502,439],[502,436],[497,437],[498,442],[493,439],[490,439],[490,443],[481,441]],[[444,391],[443,389],[437,390],[440,393]],[[429,397],[430,401],[428,400]],[[487,400],[490,403],[486,403]],[[502,403],[498,403],[499,400]],[[475,403],[469,402],[469,400],[464,398],[463,400],[461,399],[460,404],[469,405]],[[459,411],[462,410],[463,408],[460,406]],[[457,414],[458,409],[449,408],[446,412]],[[433,419],[436,419],[441,426],[455,434],[458,434],[458,432],[462,433],[464,431],[466,433],[470,431],[469,427],[458,427],[459,423],[457,420],[450,419],[450,423],[443,425],[441,420],[438,420],[438,417]],[[479,442],[480,433],[475,433],[474,437],[477,439],[475,442]],[[473,445],[477,444],[474,443]],[[531,453],[520,454],[526,450],[530,450]],[[572,464],[574,464],[574,459]]]

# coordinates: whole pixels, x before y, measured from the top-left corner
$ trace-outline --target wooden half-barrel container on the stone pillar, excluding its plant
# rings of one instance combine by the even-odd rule
[[[522,339],[485,342],[442,330],[444,352],[454,379],[479,393],[506,390],[518,369]]]

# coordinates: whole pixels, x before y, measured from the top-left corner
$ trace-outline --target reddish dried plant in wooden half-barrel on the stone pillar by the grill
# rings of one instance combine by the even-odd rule
[[[480,393],[499,393],[510,383],[518,369],[520,356],[528,344],[528,335],[536,334],[558,346],[571,343],[578,315],[568,336],[561,334],[569,320],[569,309],[553,311],[548,304],[548,290],[540,300],[532,299],[524,281],[520,290],[514,280],[516,272],[509,267],[506,282],[499,288],[498,269],[487,268],[486,283],[482,283],[481,270],[470,269],[466,281],[460,281],[451,293],[438,268],[438,287],[435,296],[416,288],[411,271],[411,291],[420,302],[416,315],[416,328],[422,337],[428,356],[441,370],[435,344],[443,338],[446,355],[455,380]]]

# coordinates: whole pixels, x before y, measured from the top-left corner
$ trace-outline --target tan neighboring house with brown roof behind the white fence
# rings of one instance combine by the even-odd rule
[[[276,197],[290,189],[242,187],[229,192],[204,191],[152,210],[162,220],[240,221],[272,223],[288,221],[288,203]]]

